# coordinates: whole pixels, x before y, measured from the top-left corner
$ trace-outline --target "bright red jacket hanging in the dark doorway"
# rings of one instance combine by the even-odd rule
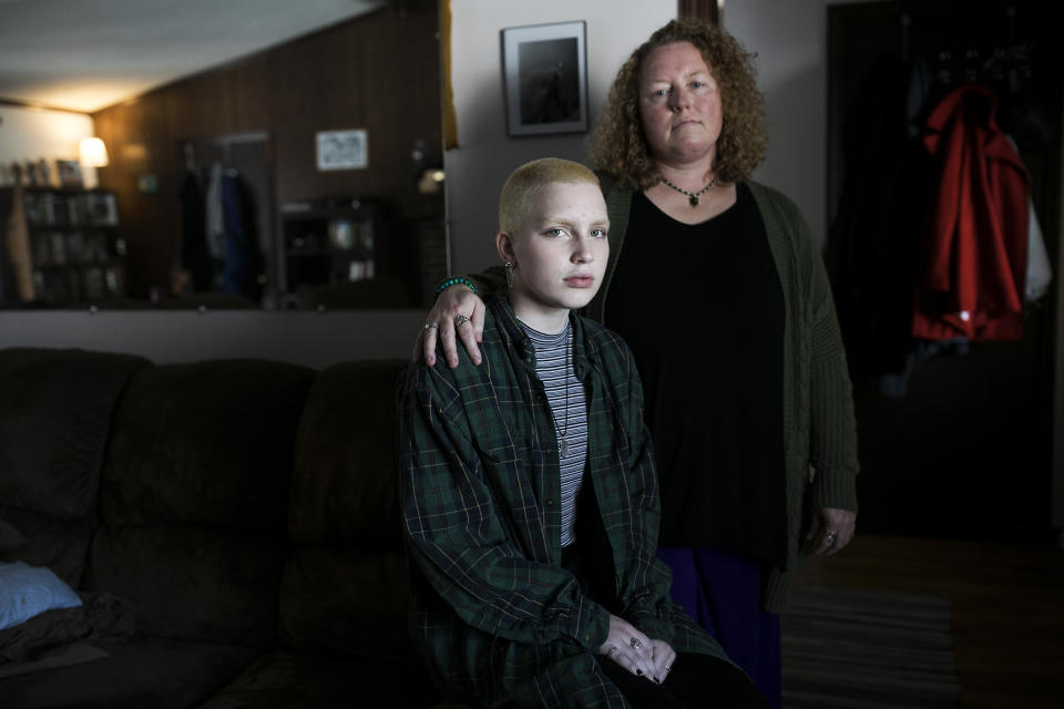
[[[924,145],[941,165],[923,244],[912,335],[930,340],[1023,337],[1027,172],[979,85],[950,93],[928,119]]]

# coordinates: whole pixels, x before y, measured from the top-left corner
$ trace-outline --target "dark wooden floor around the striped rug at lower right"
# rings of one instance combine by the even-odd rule
[[[799,582],[949,597],[961,709],[1064,708],[1064,552],[858,535]]]

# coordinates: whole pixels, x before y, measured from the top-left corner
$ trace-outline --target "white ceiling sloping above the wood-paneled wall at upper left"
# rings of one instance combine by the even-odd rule
[[[0,99],[91,113],[386,0],[0,0]]]

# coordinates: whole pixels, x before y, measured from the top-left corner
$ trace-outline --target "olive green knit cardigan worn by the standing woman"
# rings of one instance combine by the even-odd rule
[[[583,315],[606,327],[610,281],[632,206],[630,189],[600,175],[610,214],[610,260],[602,287]],[[791,578],[802,556],[802,536],[814,510],[857,512],[857,424],[835,302],[823,261],[794,202],[746,183],[765,222],[784,290],[784,451],[787,461],[787,568],[766,577],[764,608],[787,607]],[[651,297],[651,294],[647,294]]]

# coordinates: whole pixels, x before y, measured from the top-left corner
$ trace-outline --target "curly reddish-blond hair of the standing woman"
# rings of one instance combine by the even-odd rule
[[[645,189],[661,179],[640,119],[640,69],[651,51],[676,42],[690,42],[698,48],[720,89],[724,116],[714,162],[717,179],[744,179],[761,162],[768,147],[765,97],[757,89],[754,66],[756,54],[708,22],[692,18],[673,20],[654,32],[621,66],[590,138],[592,165],[632,189]]]

